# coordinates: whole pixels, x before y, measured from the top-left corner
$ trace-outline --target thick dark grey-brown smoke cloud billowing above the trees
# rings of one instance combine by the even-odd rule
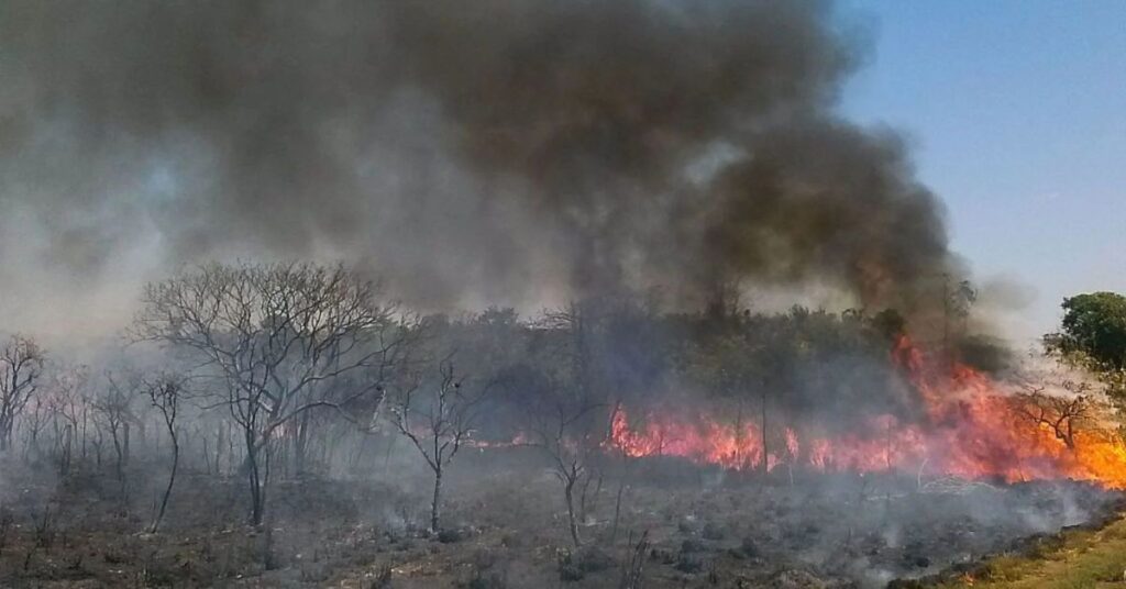
[[[902,142],[834,113],[860,48],[823,2],[5,2],[0,314],[213,257],[431,306],[909,305],[950,256]]]

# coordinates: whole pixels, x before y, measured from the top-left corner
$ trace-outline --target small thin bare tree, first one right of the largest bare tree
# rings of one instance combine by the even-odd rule
[[[418,448],[434,472],[434,501],[430,503],[430,530],[439,530],[441,476],[462,445],[470,439],[477,408],[492,383],[473,392],[464,377],[454,371],[453,355],[438,365],[437,383],[409,384],[400,392],[391,413],[395,428]]]

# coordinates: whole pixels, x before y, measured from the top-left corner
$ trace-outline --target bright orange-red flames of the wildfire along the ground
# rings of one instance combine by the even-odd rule
[[[1126,446],[1097,428],[1075,432],[1069,447],[1046,425],[1024,418],[1015,399],[986,375],[964,365],[938,366],[900,339],[893,357],[926,404],[920,422],[876,416],[865,434],[833,439],[789,427],[763,443],[758,422],[721,421],[706,414],[651,412],[631,423],[625,411],[611,421],[613,448],[627,456],[680,456],[727,468],[767,470],[781,464],[817,471],[899,470],[971,480],[1094,481],[1126,489]]]

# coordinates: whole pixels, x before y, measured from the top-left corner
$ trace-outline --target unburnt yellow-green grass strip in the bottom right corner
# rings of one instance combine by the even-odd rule
[[[1126,518],[1098,530],[1045,538],[1028,554],[1002,554],[944,588],[1087,589],[1126,587]]]

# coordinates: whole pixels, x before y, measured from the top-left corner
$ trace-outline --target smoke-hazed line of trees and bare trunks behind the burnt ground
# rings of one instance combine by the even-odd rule
[[[123,485],[132,457],[159,458],[155,530],[178,468],[244,480],[260,524],[271,479],[369,474],[373,440],[395,434],[434,472],[437,530],[449,461],[519,436],[558,473],[579,543],[575,494],[618,408],[715,403],[779,439],[905,414],[913,392],[890,354],[903,330],[893,311],[673,313],[632,296],[423,315],[339,266],[214,264],[148,285],[128,343],[100,365],[11,337],[0,448],[62,475],[110,467]]]

